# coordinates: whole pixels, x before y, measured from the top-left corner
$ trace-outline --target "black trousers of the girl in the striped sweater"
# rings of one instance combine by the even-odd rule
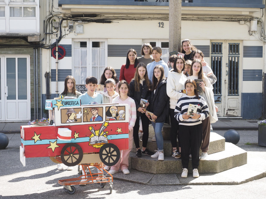
[[[200,162],[202,123],[193,126],[179,125],[179,139],[182,143],[181,161],[183,168],[188,168],[190,149],[192,157],[192,168],[197,169]]]

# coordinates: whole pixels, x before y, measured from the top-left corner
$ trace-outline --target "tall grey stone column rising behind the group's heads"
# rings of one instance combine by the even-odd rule
[[[181,48],[181,0],[169,1],[169,52]]]

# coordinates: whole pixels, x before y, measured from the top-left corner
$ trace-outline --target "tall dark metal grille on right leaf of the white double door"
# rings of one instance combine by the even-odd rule
[[[239,95],[239,56],[228,55],[228,95]]]

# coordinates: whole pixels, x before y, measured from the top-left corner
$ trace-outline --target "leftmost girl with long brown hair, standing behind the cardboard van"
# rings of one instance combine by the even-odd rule
[[[68,75],[65,78],[65,88],[64,91],[62,93],[59,93],[59,96],[63,96],[63,97],[74,97],[74,98],[78,98],[80,95],[82,95],[82,93],[80,93],[79,91],[76,90],[76,80],[73,76]],[[57,164],[57,170],[64,170],[63,168],[63,163],[62,164]],[[73,170],[72,167],[67,167],[67,170]]]

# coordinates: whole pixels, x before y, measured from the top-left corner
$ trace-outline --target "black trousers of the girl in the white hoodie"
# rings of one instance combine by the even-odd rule
[[[171,121],[171,131],[170,131],[170,138],[172,147],[176,147],[176,137],[178,138],[178,146],[181,147],[181,143],[178,136],[178,128],[179,124],[178,121],[175,119],[175,109],[170,108],[170,121]]]

